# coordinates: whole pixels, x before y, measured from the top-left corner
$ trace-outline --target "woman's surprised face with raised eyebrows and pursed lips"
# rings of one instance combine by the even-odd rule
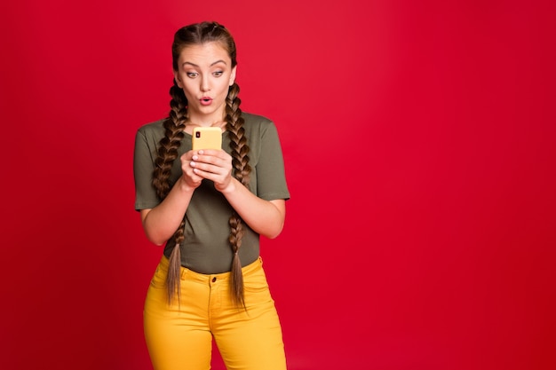
[[[187,46],[179,54],[174,77],[187,98],[191,122],[221,122],[226,111],[228,88],[234,84],[235,67],[219,43]]]

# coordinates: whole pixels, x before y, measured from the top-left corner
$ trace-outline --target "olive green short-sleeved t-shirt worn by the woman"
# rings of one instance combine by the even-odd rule
[[[282,147],[274,123],[263,116],[242,113],[244,129],[250,147],[251,193],[266,201],[290,199],[286,184]],[[152,185],[156,152],[164,136],[163,121],[148,123],[137,131],[133,171],[135,176],[135,209],[153,209],[160,199]],[[222,133],[222,148],[230,154],[228,132]],[[191,150],[191,135],[185,134],[178,149],[178,159],[171,169],[170,184],[181,176],[179,156]],[[195,189],[186,211],[185,240],[181,245],[181,264],[200,273],[229,272],[232,264],[232,248],[228,243],[230,233],[228,220],[233,209],[222,193],[210,180],[203,180]],[[240,259],[245,266],[257,260],[259,254],[258,233],[247,224],[240,248]],[[164,247],[164,255],[170,256],[173,239]]]

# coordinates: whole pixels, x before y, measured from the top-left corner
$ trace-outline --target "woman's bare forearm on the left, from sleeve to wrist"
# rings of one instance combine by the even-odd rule
[[[160,246],[171,238],[186,214],[194,191],[195,188],[186,185],[182,177],[179,177],[158,206],[141,210],[143,229],[148,240]]]

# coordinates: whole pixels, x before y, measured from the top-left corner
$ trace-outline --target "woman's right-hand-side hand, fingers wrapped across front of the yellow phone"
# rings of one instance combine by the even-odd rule
[[[219,192],[226,193],[233,185],[232,156],[223,150],[203,149],[194,152],[189,166],[195,176],[211,180]]]

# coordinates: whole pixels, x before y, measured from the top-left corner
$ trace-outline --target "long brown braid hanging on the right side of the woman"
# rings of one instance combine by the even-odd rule
[[[249,165],[249,146],[247,138],[245,138],[245,129],[243,128],[243,117],[240,104],[242,100],[238,98],[240,88],[234,83],[226,98],[226,130],[230,138],[230,149],[232,150],[232,166],[234,167],[234,177],[237,178],[242,185],[249,185],[250,165]],[[243,224],[242,218],[234,211],[229,219],[230,236],[228,238],[230,247],[234,252],[232,260],[232,298],[238,305],[245,307],[245,299],[243,295],[243,276],[242,262],[240,261],[239,248],[242,246]]]

